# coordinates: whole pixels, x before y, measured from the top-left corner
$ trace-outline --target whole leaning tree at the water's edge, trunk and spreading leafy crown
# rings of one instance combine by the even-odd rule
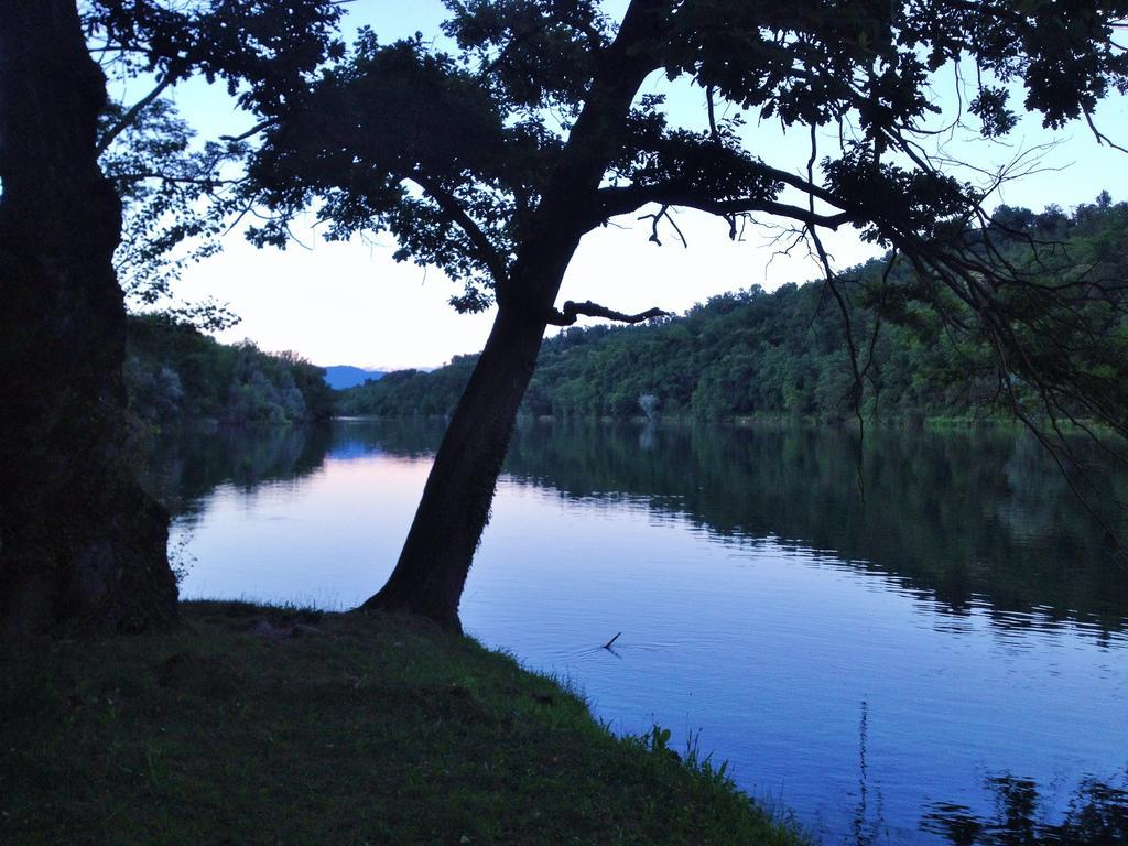
[[[788,227],[840,306],[857,396],[866,362],[848,281],[820,237],[854,227],[913,271],[876,294],[882,314],[923,302],[946,331],[986,338],[998,390],[1024,418],[1029,388],[1051,421],[1083,413],[1125,431],[1122,351],[1093,334],[1122,320],[1116,287],[1083,274],[1058,284],[996,261],[981,202],[1007,174],[976,187],[942,170],[925,118],[931,76],[963,61],[977,71],[968,111],[984,135],[1014,126],[1008,96],[1022,88],[1047,126],[1084,118],[1107,141],[1092,114],[1128,88],[1112,38],[1128,5],[632,0],[617,26],[590,0],[448,6],[456,54],[362,32],[347,61],[284,108],[258,109],[250,167],[271,215],[257,243],[284,245],[288,223],[314,209],[331,238],[393,233],[399,259],[464,283],[457,308],[497,305],[396,569],[365,607],[457,627],[545,328],[661,314],[554,305],[582,236],[616,215],[647,212],[654,241],[675,206],[721,218],[733,238],[749,219]],[[672,125],[661,97],[640,94],[654,73],[700,90],[703,129]],[[748,113],[810,144],[804,173],[757,155]],[[840,143],[820,149],[819,127],[836,127]]]

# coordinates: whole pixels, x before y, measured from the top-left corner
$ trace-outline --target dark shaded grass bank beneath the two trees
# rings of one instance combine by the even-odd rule
[[[3,844],[802,841],[668,732],[409,618],[183,607],[0,655]]]

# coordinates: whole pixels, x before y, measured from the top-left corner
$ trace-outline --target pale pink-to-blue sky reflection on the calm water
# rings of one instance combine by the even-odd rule
[[[184,594],[359,603],[390,572],[429,464],[352,449],[297,481],[221,485],[177,526],[195,559]],[[827,843],[928,841],[929,805],[985,813],[1003,772],[1060,811],[1084,775],[1128,766],[1122,633],[979,599],[955,614],[895,573],[653,504],[503,477],[467,631],[572,680],[616,730],[699,731]]]

